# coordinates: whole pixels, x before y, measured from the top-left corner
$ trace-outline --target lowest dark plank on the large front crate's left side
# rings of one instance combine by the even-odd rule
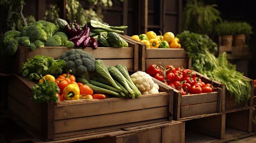
[[[32,128],[40,133],[42,132],[41,118],[11,96],[8,96],[8,109]]]

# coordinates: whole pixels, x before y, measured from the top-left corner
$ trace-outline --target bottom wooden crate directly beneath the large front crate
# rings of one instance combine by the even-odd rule
[[[154,123],[143,128],[124,128],[112,136],[90,139],[85,143],[184,143],[182,122]]]

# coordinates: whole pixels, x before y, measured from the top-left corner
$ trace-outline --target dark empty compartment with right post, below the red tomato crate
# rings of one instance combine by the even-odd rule
[[[225,137],[225,114],[186,121],[186,129],[223,139]]]

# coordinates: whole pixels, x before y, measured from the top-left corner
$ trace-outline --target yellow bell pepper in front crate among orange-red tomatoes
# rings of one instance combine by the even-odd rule
[[[63,89],[63,97],[65,100],[80,99],[80,89],[76,84],[69,84]]]

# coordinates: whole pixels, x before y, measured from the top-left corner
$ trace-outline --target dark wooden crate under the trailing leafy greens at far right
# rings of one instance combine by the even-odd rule
[[[247,102],[241,101],[240,103],[236,103],[235,98],[228,97],[228,95],[226,93],[225,97],[223,98],[223,102],[225,101],[225,106],[222,106],[222,111],[236,109],[236,108],[242,108],[242,107],[247,107],[247,106],[249,106],[249,107],[253,106],[253,104],[254,104],[253,103],[254,102],[254,80],[249,79],[248,77],[245,77],[245,76],[244,76],[244,78],[250,80],[250,83],[252,86],[251,98]]]

